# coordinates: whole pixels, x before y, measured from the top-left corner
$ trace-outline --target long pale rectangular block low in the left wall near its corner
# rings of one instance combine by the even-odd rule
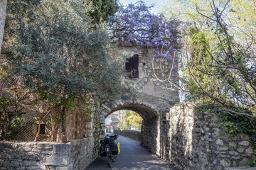
[[[67,166],[69,164],[69,157],[51,156],[43,159],[44,165],[51,166]]]

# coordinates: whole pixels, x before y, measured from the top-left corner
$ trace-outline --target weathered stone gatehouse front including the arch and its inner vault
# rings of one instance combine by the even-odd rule
[[[179,102],[178,90],[169,90],[170,84],[156,79],[153,72],[152,57],[154,49],[137,48],[135,46],[117,47],[112,51],[113,55],[123,55],[127,58],[134,55],[139,56],[139,78],[129,79],[129,84],[134,88],[131,96],[124,96],[116,101],[103,105],[100,121],[104,128],[105,118],[114,111],[130,110],[142,116],[142,146],[150,149],[151,152],[158,152],[160,139],[159,115],[168,108]],[[169,72],[171,62],[166,64],[166,72]],[[154,66],[156,74],[159,74],[159,66]],[[172,70],[171,79],[178,84],[178,67]],[[171,96],[171,97],[170,97]],[[103,133],[102,133],[103,135]],[[154,139],[154,140],[151,140]]]

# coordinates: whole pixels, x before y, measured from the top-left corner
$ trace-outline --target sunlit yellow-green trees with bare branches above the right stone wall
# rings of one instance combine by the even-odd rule
[[[166,8],[166,14],[184,22],[181,67],[186,99],[256,114],[256,18],[247,14],[252,11],[255,4],[241,0],[178,0]]]

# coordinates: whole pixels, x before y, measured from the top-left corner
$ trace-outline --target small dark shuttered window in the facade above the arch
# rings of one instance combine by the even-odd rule
[[[129,78],[139,78],[139,55],[127,59],[125,63],[125,70],[127,71]]]

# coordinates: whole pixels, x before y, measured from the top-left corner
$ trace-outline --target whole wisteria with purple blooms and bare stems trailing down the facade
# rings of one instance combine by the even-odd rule
[[[153,6],[146,6],[144,1],[137,1],[128,6],[119,6],[114,16],[114,23],[109,26],[110,35],[115,42],[122,45],[134,44],[138,48],[154,49],[152,67],[154,77],[159,81],[171,84],[171,89],[179,87],[173,76],[177,73],[179,49],[177,43],[178,25],[176,19],[168,19],[150,12]],[[164,65],[169,63],[169,68]],[[160,69],[156,70],[156,66]],[[166,70],[168,73],[166,74]]]

